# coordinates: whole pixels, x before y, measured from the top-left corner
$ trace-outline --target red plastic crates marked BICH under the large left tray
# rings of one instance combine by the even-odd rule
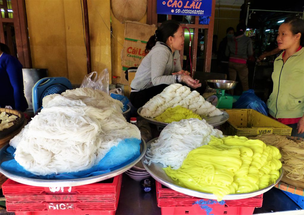
[[[99,183],[54,188],[8,180],[2,188],[7,211],[16,214],[115,214],[121,182],[119,175]]]

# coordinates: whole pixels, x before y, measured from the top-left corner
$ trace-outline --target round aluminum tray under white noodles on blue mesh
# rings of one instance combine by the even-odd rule
[[[7,147],[9,147],[9,144],[2,147],[0,150],[0,164],[4,161],[11,160],[11,156],[7,156],[7,153],[5,153]],[[65,187],[65,186],[79,186],[84,184],[91,184],[98,181],[103,181],[109,178],[112,178],[114,176],[117,176],[121,173],[124,173],[125,171],[129,170],[132,166],[134,166],[140,159],[145,155],[146,153],[146,143],[142,139],[140,143],[140,156],[136,158],[133,162],[129,163],[126,166],[123,166],[117,170],[114,170],[109,173],[104,173],[98,176],[91,176],[86,178],[79,178],[79,179],[67,179],[67,180],[42,180],[42,179],[33,179],[28,178],[21,173],[19,175],[16,175],[14,173],[10,173],[6,170],[3,170],[0,167],[0,173],[8,177],[9,179],[12,179],[16,182],[32,185],[32,186],[43,186],[43,187]]]

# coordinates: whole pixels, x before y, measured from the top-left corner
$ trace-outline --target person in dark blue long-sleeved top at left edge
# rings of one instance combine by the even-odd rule
[[[24,96],[22,64],[10,55],[9,47],[0,43],[0,107],[24,112],[28,108]]]

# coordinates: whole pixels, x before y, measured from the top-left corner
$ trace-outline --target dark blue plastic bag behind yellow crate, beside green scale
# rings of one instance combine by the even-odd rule
[[[237,109],[254,109],[265,116],[268,116],[268,107],[259,97],[254,94],[253,89],[242,93],[240,98],[233,103],[233,108]]]

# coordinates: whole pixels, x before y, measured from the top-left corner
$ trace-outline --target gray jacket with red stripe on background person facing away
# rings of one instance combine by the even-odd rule
[[[225,55],[232,58],[247,59],[253,55],[251,39],[244,34],[228,39]]]

